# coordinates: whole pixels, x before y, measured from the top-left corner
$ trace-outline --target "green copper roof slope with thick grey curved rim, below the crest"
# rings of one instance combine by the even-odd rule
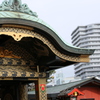
[[[94,52],[93,49],[82,49],[66,44],[47,23],[29,14],[0,11],[0,24],[26,25],[42,30],[54,38],[60,47],[72,53],[91,55]]]

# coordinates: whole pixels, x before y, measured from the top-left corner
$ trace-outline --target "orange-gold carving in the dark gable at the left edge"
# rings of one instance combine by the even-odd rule
[[[0,57],[2,58],[21,58],[12,54],[12,51],[4,50],[3,47],[0,47]]]

